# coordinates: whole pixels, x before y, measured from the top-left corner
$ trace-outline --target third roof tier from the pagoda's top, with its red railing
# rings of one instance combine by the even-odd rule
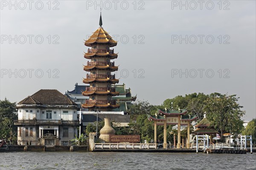
[[[111,72],[117,71],[118,66],[115,66],[114,62],[99,62],[99,61],[93,61],[89,62],[87,61],[87,65],[84,66],[84,70],[87,72],[90,72],[90,69],[111,69]]]

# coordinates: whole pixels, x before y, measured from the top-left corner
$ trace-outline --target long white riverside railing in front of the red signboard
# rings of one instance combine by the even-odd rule
[[[94,149],[157,149],[157,144],[96,143]]]

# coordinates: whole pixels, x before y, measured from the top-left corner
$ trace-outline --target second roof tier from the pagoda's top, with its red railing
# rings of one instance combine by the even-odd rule
[[[114,49],[88,49],[87,53],[84,53],[84,58],[91,59],[93,56],[106,56],[111,60],[118,57],[116,53],[114,53]]]

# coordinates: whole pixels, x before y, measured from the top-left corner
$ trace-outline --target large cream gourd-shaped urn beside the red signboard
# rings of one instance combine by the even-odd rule
[[[104,118],[105,124],[104,127],[99,131],[99,139],[101,141],[105,141],[105,143],[109,143],[109,135],[114,135],[115,130],[111,127],[110,118]]]

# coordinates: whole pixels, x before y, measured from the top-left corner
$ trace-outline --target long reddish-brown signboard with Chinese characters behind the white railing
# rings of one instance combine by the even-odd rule
[[[140,135],[109,135],[110,143],[120,143],[120,142],[130,142],[137,143],[140,142]]]

